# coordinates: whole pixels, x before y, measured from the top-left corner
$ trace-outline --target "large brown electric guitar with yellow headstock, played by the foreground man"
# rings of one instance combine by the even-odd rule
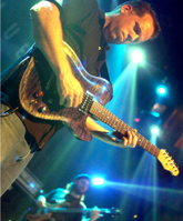
[[[111,83],[105,79],[89,74],[74,51],[67,43],[64,43],[64,51],[68,54],[74,77],[85,92],[82,103],[78,108],[59,106],[54,74],[50,73],[47,82],[44,80],[45,83],[42,83],[32,57],[19,87],[19,99],[22,108],[35,118],[62,121],[74,137],[84,141],[90,141],[92,138],[85,125],[89,115],[101,120],[122,134],[132,131],[132,128],[104,108],[104,104],[112,98]],[[140,133],[136,133],[136,135],[138,144],[141,148],[157,158],[163,168],[173,175],[179,174],[176,164],[165,150],[160,150]]]

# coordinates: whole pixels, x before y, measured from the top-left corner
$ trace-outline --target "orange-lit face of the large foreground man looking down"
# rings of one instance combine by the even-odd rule
[[[140,43],[149,40],[154,32],[153,18],[145,13],[143,17],[131,11],[114,14],[104,28],[104,37],[109,43]]]

